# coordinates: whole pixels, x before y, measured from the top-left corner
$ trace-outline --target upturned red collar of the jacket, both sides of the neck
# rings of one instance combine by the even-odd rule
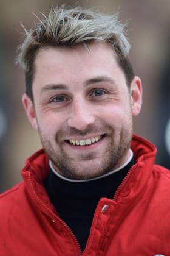
[[[152,167],[155,161],[157,149],[149,141],[134,135],[132,138],[131,149],[134,152],[135,165],[132,166],[127,178],[123,180],[115,195],[117,202],[124,202],[128,199],[134,200],[148,182]],[[39,150],[25,162],[25,167],[21,172],[25,187],[31,193],[36,204],[41,201],[51,206],[49,197],[43,186],[43,181],[49,174],[49,158],[44,149]],[[42,204],[41,204],[42,205]]]

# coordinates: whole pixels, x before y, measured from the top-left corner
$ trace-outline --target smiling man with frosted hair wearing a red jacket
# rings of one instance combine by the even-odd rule
[[[1,255],[170,255],[170,175],[133,136],[141,80],[117,15],[52,8],[18,62],[43,149],[1,195]]]

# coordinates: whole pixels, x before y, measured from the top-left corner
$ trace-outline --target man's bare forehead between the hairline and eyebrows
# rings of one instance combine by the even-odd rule
[[[35,79],[33,84],[81,83],[97,76],[124,79],[116,55],[107,43],[90,43],[73,47],[44,47],[35,58]]]

